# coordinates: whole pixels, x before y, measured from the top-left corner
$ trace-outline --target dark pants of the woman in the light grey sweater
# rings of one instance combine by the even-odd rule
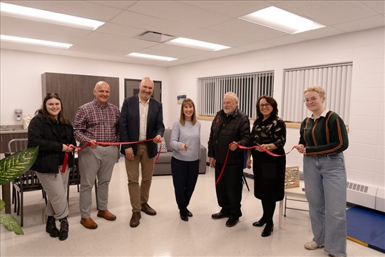
[[[185,213],[197,183],[199,160],[180,161],[173,157],[171,158],[171,173],[178,208],[181,213]]]

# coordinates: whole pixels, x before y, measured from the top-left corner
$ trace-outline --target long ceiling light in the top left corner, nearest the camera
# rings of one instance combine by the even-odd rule
[[[25,6],[0,3],[1,15],[12,16],[21,19],[30,19],[34,21],[43,21],[51,24],[71,26],[78,29],[88,29],[94,31],[102,26],[104,22],[95,21],[67,14],[59,14],[53,11],[43,11]]]

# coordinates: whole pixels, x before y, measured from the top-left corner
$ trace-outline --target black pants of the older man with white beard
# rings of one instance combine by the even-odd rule
[[[223,163],[215,163],[215,181],[222,170]],[[243,163],[227,163],[220,181],[215,187],[217,191],[217,201],[221,212],[231,217],[242,216],[242,173]]]

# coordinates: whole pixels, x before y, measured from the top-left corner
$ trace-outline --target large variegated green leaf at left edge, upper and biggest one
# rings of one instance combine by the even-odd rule
[[[39,146],[26,148],[0,160],[0,185],[13,181],[34,165]]]

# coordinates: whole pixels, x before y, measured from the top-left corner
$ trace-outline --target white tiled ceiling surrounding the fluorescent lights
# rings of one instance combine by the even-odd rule
[[[46,11],[105,21],[88,31],[27,19],[1,16],[1,34],[73,44],[55,49],[1,41],[2,49],[35,51],[133,64],[176,66],[299,41],[344,34],[385,25],[385,1],[4,1]],[[237,19],[277,6],[319,24],[322,29],[289,35]],[[204,51],[135,39],[145,31],[231,46]],[[138,52],[177,58],[152,61],[128,57]]]

